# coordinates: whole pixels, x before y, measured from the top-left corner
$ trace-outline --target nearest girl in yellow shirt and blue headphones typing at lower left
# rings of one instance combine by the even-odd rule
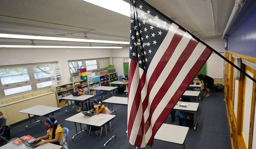
[[[52,143],[52,144],[56,144],[56,145],[60,145],[60,141],[62,140],[64,134],[63,134],[63,130],[62,127],[60,127],[57,124],[57,120],[55,118],[47,118],[46,121],[44,122],[44,124],[46,125],[46,129],[48,129],[47,134],[45,136],[41,136],[37,139],[35,139],[33,142],[38,142],[42,139],[44,139],[44,141],[39,142],[37,144],[37,146],[39,145],[43,145],[45,143]],[[49,140],[45,140],[48,139]]]

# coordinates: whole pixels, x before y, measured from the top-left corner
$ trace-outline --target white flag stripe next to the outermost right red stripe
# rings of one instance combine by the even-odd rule
[[[177,89],[187,76],[188,72],[190,69],[194,66],[198,58],[201,56],[203,51],[205,50],[206,46],[198,43],[190,57],[188,58],[187,62],[183,65],[181,71],[177,75],[176,79],[174,80],[173,84],[170,86],[168,91],[166,92],[165,96],[163,99],[160,101],[160,103],[157,105],[154,113],[152,114],[152,119],[151,119],[151,124],[154,126],[155,121],[159,117],[159,115],[162,113],[163,109],[166,107],[168,102],[170,101],[170,98],[176,93]],[[152,135],[152,129],[149,129],[148,132],[146,133],[146,138],[150,138]]]

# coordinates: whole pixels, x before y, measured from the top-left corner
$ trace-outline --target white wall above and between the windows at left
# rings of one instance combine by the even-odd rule
[[[0,49],[0,65],[59,62],[62,83],[70,82],[68,60],[112,56],[112,49]],[[112,62],[110,62],[112,64]]]

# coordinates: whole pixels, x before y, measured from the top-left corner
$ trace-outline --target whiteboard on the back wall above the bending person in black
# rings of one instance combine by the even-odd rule
[[[221,53],[224,56],[224,53]],[[224,60],[217,54],[212,55],[207,60],[207,76],[212,78],[224,78]]]

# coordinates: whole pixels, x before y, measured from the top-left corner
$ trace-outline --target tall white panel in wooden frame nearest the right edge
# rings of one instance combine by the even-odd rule
[[[248,75],[253,78],[253,74],[250,71],[246,71]],[[249,143],[249,130],[250,130],[250,116],[251,116],[251,103],[252,103],[252,80],[245,77],[245,104],[243,112],[243,136],[248,148]]]

